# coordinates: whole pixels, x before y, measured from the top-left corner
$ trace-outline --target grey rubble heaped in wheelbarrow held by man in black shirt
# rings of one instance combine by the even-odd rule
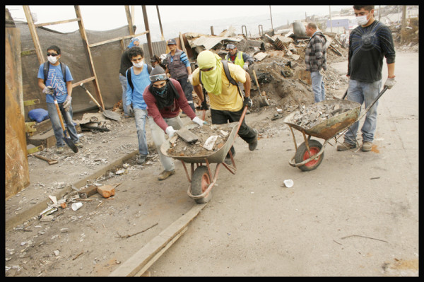
[[[317,124],[324,122],[326,119],[330,119],[348,110],[350,109],[343,108],[338,104],[302,105],[300,109],[295,112],[290,122],[304,129],[311,129]]]

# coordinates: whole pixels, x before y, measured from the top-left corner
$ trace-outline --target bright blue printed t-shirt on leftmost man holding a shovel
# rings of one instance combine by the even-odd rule
[[[48,63],[49,62],[47,61],[46,64]],[[45,79],[44,64],[40,65],[37,78],[41,78],[42,80]],[[66,81],[73,81],[71,71],[69,71],[68,66],[66,66]],[[46,86],[52,86],[52,88],[54,88],[57,102],[65,102],[66,97],[68,97],[68,89],[66,88],[66,82],[64,81],[64,75],[62,74],[60,64],[57,66],[50,64],[45,84]],[[46,94],[46,102],[54,102],[53,96]]]

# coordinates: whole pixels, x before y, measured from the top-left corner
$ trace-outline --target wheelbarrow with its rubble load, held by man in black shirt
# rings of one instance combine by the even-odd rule
[[[289,165],[298,167],[303,171],[318,168],[324,158],[326,143],[332,138],[337,142],[338,136],[341,136],[343,131],[346,131],[367,114],[387,89],[387,86],[384,86],[377,98],[368,105],[360,117],[361,105],[358,102],[340,99],[324,100],[312,105],[302,106],[300,110],[288,114],[284,123],[290,127],[296,148],[295,155],[288,162]],[[293,128],[302,132],[305,140],[299,147]],[[324,139],[324,144],[311,139],[311,136]]]

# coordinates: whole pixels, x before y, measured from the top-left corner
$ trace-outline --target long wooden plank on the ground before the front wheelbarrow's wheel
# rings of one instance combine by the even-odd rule
[[[196,204],[193,206],[184,216],[178,218],[177,221],[165,228],[165,230],[144,245],[138,252],[126,260],[126,262],[112,271],[109,276],[135,276],[144,272],[145,270],[143,271],[143,269],[151,266],[187,230],[187,225],[199,214],[206,204]]]

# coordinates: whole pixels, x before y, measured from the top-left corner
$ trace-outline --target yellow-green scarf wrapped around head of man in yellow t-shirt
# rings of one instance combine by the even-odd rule
[[[197,56],[197,64],[199,64],[201,82],[206,91],[220,95],[222,90],[221,73],[223,69],[221,58],[217,54],[206,50],[200,52],[199,56]],[[201,71],[201,69],[209,69],[211,67],[213,67],[211,71]]]

